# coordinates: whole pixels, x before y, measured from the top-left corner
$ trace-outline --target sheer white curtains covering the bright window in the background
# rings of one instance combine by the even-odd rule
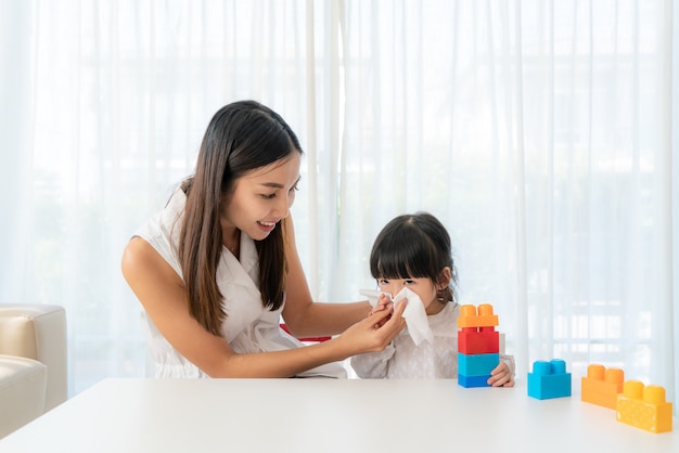
[[[67,308],[72,394],[144,374],[123,247],[247,98],[305,146],[293,216],[319,300],[373,287],[377,231],[428,210],[518,377],[601,362],[674,400],[671,1],[0,4],[1,299]]]

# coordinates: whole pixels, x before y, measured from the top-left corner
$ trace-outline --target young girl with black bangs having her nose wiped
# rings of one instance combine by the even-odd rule
[[[375,238],[370,254],[370,273],[383,293],[376,310],[389,301],[385,294],[395,297],[402,288],[408,288],[417,296],[410,299],[419,298],[423,305],[433,338],[415,345],[407,327],[384,351],[353,357],[351,366],[357,375],[361,378],[457,378],[460,309],[454,289],[458,272],[446,228],[427,212],[395,218]],[[491,372],[488,384],[514,385],[512,357],[500,357],[500,364]]]

